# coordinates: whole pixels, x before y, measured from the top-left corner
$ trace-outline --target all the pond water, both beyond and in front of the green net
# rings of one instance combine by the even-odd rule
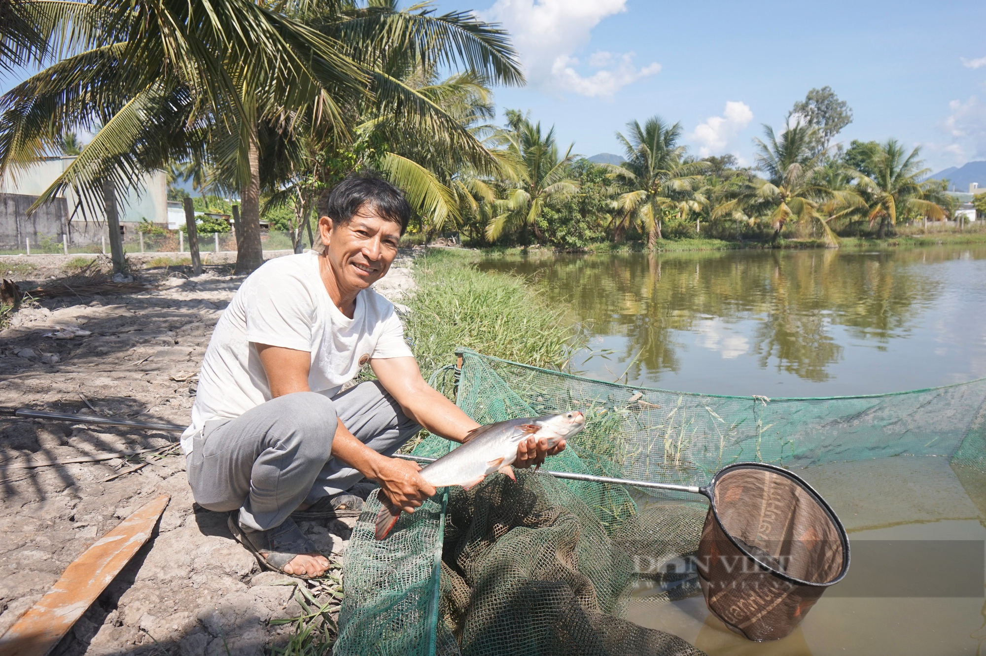
[[[776,398],[879,394],[986,375],[986,247],[565,255],[480,266],[529,276],[571,320],[586,322],[590,346],[573,368],[602,380]],[[628,619],[712,656],[986,649],[981,556],[943,562],[957,543],[986,542],[986,477],[935,456],[798,473],[846,526],[853,563],[791,635],[750,642],[701,596],[657,603],[646,580]],[[896,558],[901,544],[923,545],[926,556]],[[887,592],[880,576],[885,584],[888,572],[903,582],[970,580],[978,594]]]

